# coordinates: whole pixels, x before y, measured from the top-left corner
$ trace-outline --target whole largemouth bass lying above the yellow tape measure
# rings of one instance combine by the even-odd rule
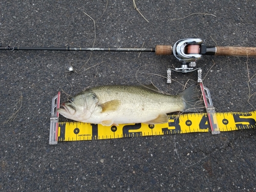
[[[82,91],[57,111],[68,119],[106,126],[168,122],[167,113],[202,111],[201,92],[191,86],[178,95],[142,86],[99,86]]]

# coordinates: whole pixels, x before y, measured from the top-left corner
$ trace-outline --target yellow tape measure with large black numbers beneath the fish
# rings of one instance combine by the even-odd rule
[[[249,113],[216,113],[221,132],[256,127],[256,111]],[[169,115],[169,122],[163,124],[120,124],[103,126],[82,122],[59,122],[56,130],[57,141],[81,141],[116,139],[153,135],[169,135],[195,132],[210,132],[206,113]]]

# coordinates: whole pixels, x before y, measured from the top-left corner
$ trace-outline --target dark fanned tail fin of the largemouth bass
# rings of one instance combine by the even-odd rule
[[[202,99],[202,92],[198,85],[193,84],[179,94],[184,102],[184,109],[182,112],[201,112],[204,111],[205,106]]]

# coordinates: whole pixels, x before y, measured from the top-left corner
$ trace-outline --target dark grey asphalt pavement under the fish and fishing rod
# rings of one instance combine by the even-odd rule
[[[208,46],[256,46],[253,0],[135,3],[139,11],[132,0],[4,0],[0,44],[154,48],[193,37]],[[65,101],[90,86],[152,82],[176,94],[197,74],[172,73],[166,83],[166,70],[180,66],[173,55],[0,54],[0,191],[256,191],[255,129],[49,145],[51,100],[58,91]],[[197,62],[217,112],[255,110],[255,65],[255,57],[204,56]]]

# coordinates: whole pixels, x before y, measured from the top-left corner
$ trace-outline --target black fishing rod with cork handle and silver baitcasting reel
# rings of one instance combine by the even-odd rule
[[[157,45],[155,48],[83,48],[83,47],[0,47],[0,50],[30,50],[30,51],[117,51],[117,52],[155,52],[156,55],[174,55],[182,62],[180,68],[168,69],[187,73],[198,70],[196,61],[202,55],[232,55],[256,56],[256,47],[207,47],[201,38],[186,38],[178,40],[174,46]],[[167,70],[167,73],[168,73]]]

